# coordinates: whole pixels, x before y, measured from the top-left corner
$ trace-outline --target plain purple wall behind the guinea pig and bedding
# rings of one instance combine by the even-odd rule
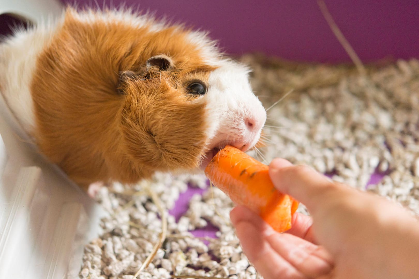
[[[103,0],[63,0],[79,6],[96,1],[102,6]],[[208,30],[231,54],[262,51],[298,61],[350,61],[316,0],[113,0],[113,5],[122,2]],[[418,0],[325,2],[363,61],[419,58]]]

